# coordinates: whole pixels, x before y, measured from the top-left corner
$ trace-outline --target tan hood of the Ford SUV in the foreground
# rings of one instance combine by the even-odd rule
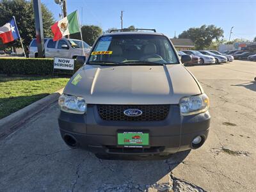
[[[79,76],[77,84],[73,79]],[[166,66],[84,65],[63,93],[84,97],[88,104],[179,104],[198,95],[198,82],[181,64]]]

